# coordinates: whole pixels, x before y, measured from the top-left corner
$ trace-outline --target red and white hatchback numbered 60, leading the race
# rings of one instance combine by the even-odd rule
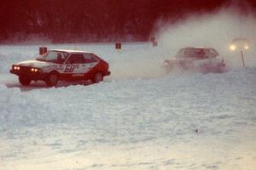
[[[22,85],[42,80],[49,87],[59,80],[91,80],[102,82],[110,75],[108,63],[96,54],[65,49],[52,49],[36,60],[27,60],[12,65],[11,73],[19,77]]]

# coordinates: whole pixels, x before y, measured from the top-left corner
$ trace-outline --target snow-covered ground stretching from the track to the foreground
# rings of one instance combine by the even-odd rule
[[[46,44],[88,50],[112,75],[22,88],[9,74],[39,46],[0,46],[0,169],[256,169],[256,66],[166,75],[147,43]],[[198,133],[195,130],[198,129]]]

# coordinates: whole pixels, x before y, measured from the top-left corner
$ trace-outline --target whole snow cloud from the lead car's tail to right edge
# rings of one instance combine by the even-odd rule
[[[248,8],[249,9],[249,8]],[[215,48],[227,67],[242,67],[241,51],[230,51],[234,38],[247,38],[250,48],[243,50],[245,65],[256,66],[256,16],[250,10],[230,7],[211,14],[193,14],[175,24],[159,20],[154,30],[157,47],[148,43],[148,48],[122,48],[110,61],[112,79],[161,77],[165,74],[164,59],[170,59],[179,48]],[[125,47],[125,45],[124,45]],[[180,71],[177,71],[180,73]]]

